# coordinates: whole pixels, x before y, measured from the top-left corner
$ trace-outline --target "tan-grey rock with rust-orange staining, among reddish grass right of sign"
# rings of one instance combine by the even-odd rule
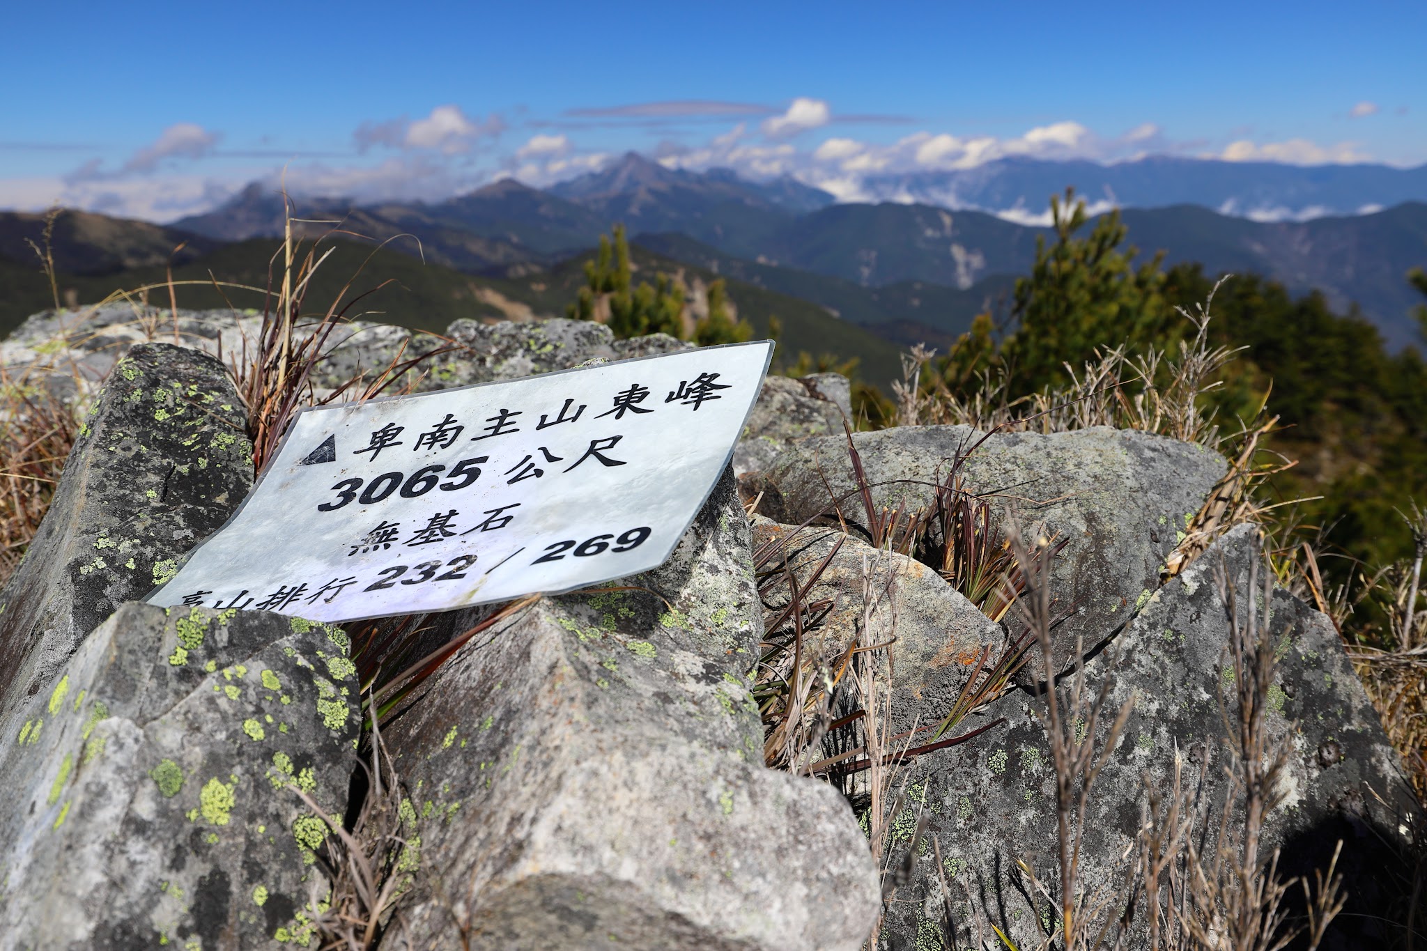
[[[999,624],[916,559],[873,549],[832,529],[798,529],[756,519],[753,546],[775,539],[783,540],[783,556],[803,585],[838,548],[805,596],[809,603],[832,602],[812,634],[815,643],[809,644],[809,650],[836,657],[853,637],[860,637],[863,647],[896,639],[888,652],[895,690],[895,733],[940,723],[966,682],[968,666],[975,663],[983,647],[989,646],[995,656],[1005,642]],[[865,592],[879,597],[885,593],[889,605],[888,610],[873,617],[873,623],[879,624],[873,630],[862,629]],[[775,587],[768,605],[786,606],[785,590]],[[890,624],[893,616],[895,627]]]

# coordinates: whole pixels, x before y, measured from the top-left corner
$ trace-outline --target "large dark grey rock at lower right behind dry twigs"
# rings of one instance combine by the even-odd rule
[[[1136,706],[1092,793],[1080,858],[1086,888],[1114,890],[1123,881],[1122,857],[1139,828],[1146,777],[1167,791],[1176,749],[1186,753],[1189,784],[1202,783],[1209,801],[1223,801],[1219,697],[1222,687],[1232,689],[1233,669],[1227,613],[1213,573],[1224,565],[1246,617],[1254,597],[1249,569],[1260,557],[1254,532],[1241,526],[1220,539],[1087,664],[1092,696],[1113,676],[1107,720],[1132,694]],[[1270,749],[1287,749],[1290,756],[1286,798],[1267,820],[1266,848],[1283,848],[1281,873],[1311,875],[1313,868],[1327,867],[1341,838],[1339,870],[1350,907],[1323,947],[1378,947],[1381,922],[1400,920],[1404,911],[1393,905],[1390,880],[1408,870],[1410,881],[1404,857],[1418,834],[1421,810],[1327,617],[1281,590],[1269,609],[1279,667],[1267,697],[1267,733]],[[1119,657],[1113,670],[1112,656]],[[995,925],[1017,947],[1039,947],[1053,922],[1052,908],[1027,897],[1033,890],[1016,870],[1017,860],[1029,858],[1037,875],[1055,883],[1055,770],[1035,716],[1039,703],[1017,690],[989,710],[1005,724],[922,759],[895,824],[896,848],[905,851],[918,817],[928,818],[926,836],[940,843],[963,945],[995,940]],[[1214,811],[1210,817],[1217,823]],[[1297,893],[1290,895],[1296,898]],[[942,910],[932,850],[923,850],[912,881],[892,901],[882,947],[928,947],[923,938],[936,934]],[[936,941],[930,947],[940,947]]]

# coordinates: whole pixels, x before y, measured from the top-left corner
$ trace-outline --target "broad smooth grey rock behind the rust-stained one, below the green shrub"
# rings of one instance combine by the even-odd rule
[[[932,483],[977,439],[968,426],[853,435],[875,503],[908,509],[928,506]],[[1159,587],[1166,555],[1224,469],[1217,453],[1197,445],[1095,428],[993,435],[966,459],[962,475],[999,516],[1015,510],[1026,528],[1040,523],[1049,536],[1066,540],[1052,593],[1075,615],[1056,629],[1056,639],[1073,647],[1083,636],[1090,649]],[[795,443],[749,489],[763,492],[758,510],[779,522],[799,525],[831,512],[832,499],[841,498],[843,518],[860,525],[866,518],[855,486],[846,438],[833,436]]]

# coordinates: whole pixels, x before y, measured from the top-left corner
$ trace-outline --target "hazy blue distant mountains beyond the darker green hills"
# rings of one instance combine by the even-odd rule
[[[1427,170],[1167,158],[1109,167],[1027,160],[992,164],[996,168],[973,170],[982,174],[983,191],[976,194],[983,197],[1030,187],[993,191],[1012,173],[1032,181],[1055,174],[1055,168],[1082,167],[1113,173],[1117,187],[1132,191],[1150,188],[1153,170],[1162,178],[1173,178],[1170,173],[1179,170],[1187,184],[1166,192],[1173,197],[1209,194],[1200,185],[1210,188],[1233,175],[1239,175],[1230,181],[1239,183],[1236,194],[1250,194],[1244,183],[1251,184],[1254,174],[1263,178],[1264,168],[1297,183],[1293,194],[1304,201],[1326,201],[1353,188],[1367,194],[1368,185],[1380,187],[1373,194],[1381,197],[1388,197],[1388,185],[1398,190],[1393,195],[1427,197]],[[1423,184],[1413,185],[1418,180]],[[929,177],[918,181],[933,187]],[[962,185],[968,181],[972,178]],[[1047,197],[1057,190],[1049,181],[1043,183]],[[1276,194],[1287,192],[1280,188]],[[980,211],[890,201],[835,204],[832,195],[792,180],[751,183],[726,170],[669,170],[634,153],[548,191],[505,180],[435,204],[315,200],[301,201],[297,212],[340,221],[342,230],[377,240],[411,235],[397,238],[392,247],[459,271],[502,277],[549,268],[592,247],[618,221],[654,251],[815,301],[843,319],[876,325],[896,341],[959,332],[972,314],[1006,292],[1013,275],[1027,271],[1036,241],[1050,234]],[[1421,201],[1398,200],[1373,214],[1301,222],[1250,221],[1194,204],[1126,208],[1122,215],[1130,242],[1142,252],[1163,250],[1170,264],[1199,261],[1210,274],[1257,272],[1296,292],[1321,289],[1339,309],[1357,304],[1393,345],[1416,339],[1410,308],[1417,301],[1404,274],[1427,264],[1427,204]],[[251,185],[224,207],[173,227],[221,241],[275,237],[283,228],[283,204]]]

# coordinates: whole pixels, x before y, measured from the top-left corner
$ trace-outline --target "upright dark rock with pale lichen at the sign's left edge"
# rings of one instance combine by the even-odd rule
[[[215,359],[133,346],[0,592],[0,711],[44,690],[90,630],[227,520],[253,486],[251,456],[243,403]]]

